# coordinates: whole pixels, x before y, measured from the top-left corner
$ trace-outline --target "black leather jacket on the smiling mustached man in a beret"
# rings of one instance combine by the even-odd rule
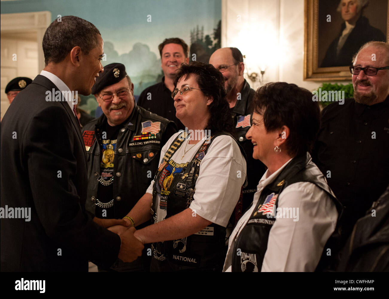
[[[82,128],[86,153],[88,156],[88,193],[86,209],[95,215],[95,200],[100,176],[100,133],[106,122],[103,114],[100,118],[90,121]],[[161,122],[160,131],[155,139],[135,140],[134,136],[141,135],[142,122],[151,120]],[[159,164],[162,146],[177,132],[173,121],[166,120],[154,113],[136,105],[130,117],[124,121],[117,136],[114,156],[114,218],[123,218],[150,185]],[[93,144],[87,143],[85,131],[94,131]],[[90,141],[89,141],[90,142]],[[90,147],[89,147],[90,146]],[[111,198],[112,199],[112,198]],[[110,199],[109,199],[110,200]],[[106,201],[105,201],[106,202]]]

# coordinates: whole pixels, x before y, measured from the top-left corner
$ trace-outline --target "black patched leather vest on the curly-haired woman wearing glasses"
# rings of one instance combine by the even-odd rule
[[[203,142],[191,161],[182,164],[176,164],[170,158],[185,140],[184,132],[171,144],[154,177],[152,194],[154,223],[158,222],[156,216],[157,194],[160,194],[160,208],[166,209],[166,218],[189,208],[193,201],[202,159],[207,154],[210,144],[219,135],[230,134],[224,132],[212,135],[210,140]],[[238,146],[242,152],[243,149],[239,144]],[[191,236],[153,243],[153,257],[158,261],[167,260],[173,271],[183,268],[221,271],[225,257],[225,237],[226,229],[216,223],[211,223]]]

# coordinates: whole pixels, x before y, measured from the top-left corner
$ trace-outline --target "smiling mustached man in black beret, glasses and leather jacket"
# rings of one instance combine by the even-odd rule
[[[121,63],[106,65],[92,88],[103,114],[87,123],[82,135],[88,155],[86,209],[97,218],[126,216],[147,190],[162,146],[177,132],[173,121],[137,106],[133,91]],[[124,220],[137,226],[132,219]],[[109,271],[147,271],[149,248],[145,246],[142,257],[134,262],[117,260]]]

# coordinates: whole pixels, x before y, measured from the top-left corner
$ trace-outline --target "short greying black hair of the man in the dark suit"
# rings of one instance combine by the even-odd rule
[[[79,46],[85,54],[98,46],[100,31],[92,23],[75,16],[63,16],[49,25],[43,37],[45,64],[59,63]]]

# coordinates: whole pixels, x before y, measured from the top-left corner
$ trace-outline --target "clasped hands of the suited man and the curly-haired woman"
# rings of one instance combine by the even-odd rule
[[[93,221],[119,235],[121,246],[118,258],[123,262],[133,262],[142,255],[144,242],[134,236],[135,227],[129,221],[123,219],[93,218]]]

